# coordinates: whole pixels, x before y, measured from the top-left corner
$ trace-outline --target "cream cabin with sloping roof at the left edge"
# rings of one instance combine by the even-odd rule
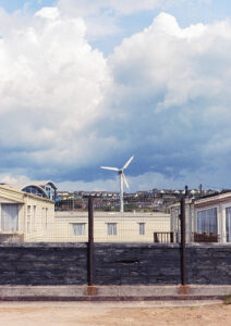
[[[0,186],[0,241],[48,241],[54,202]]]

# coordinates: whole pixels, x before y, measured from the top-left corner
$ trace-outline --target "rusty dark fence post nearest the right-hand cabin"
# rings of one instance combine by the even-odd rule
[[[181,284],[186,285],[185,197],[181,198]]]

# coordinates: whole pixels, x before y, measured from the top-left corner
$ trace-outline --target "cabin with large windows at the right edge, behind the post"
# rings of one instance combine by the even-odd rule
[[[171,231],[180,233],[180,202],[170,206]],[[186,241],[231,242],[231,191],[186,199]]]

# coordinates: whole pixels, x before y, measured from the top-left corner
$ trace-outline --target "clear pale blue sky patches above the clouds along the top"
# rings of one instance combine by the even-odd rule
[[[136,2],[138,1],[139,0]],[[0,0],[0,7],[9,13],[13,13],[15,11],[35,13],[44,7],[59,5],[59,2],[60,1],[58,0]],[[64,3],[65,0],[61,2]],[[74,3],[77,1],[70,2]],[[90,0],[90,2],[94,1]],[[108,3],[110,3],[110,1],[108,1]],[[231,3],[229,0],[163,0],[159,1],[159,3],[160,4],[158,5],[153,5],[153,10],[141,10],[135,13],[126,13],[122,15],[118,15],[112,10],[109,15],[115,17],[117,24],[121,28],[120,33],[112,37],[102,37],[94,40],[90,39],[90,43],[94,47],[100,48],[100,50],[106,54],[109,54],[113,51],[115,46],[121,43],[121,40],[124,37],[130,37],[131,35],[149,26],[154,17],[161,11],[172,14],[178,20],[181,27],[186,27],[191,24],[197,23],[209,24],[215,21],[230,18],[231,16]],[[69,1],[66,1],[66,7],[69,7]],[[104,11],[104,8],[105,7],[101,7],[100,10]],[[109,8],[109,5],[107,8]],[[94,15],[90,13],[90,16]]]

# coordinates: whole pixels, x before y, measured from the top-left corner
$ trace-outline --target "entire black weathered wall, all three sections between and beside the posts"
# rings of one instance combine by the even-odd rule
[[[231,285],[231,247],[189,246],[187,284]],[[96,285],[178,285],[179,244],[95,243]],[[0,285],[86,285],[87,243],[0,244]]]

